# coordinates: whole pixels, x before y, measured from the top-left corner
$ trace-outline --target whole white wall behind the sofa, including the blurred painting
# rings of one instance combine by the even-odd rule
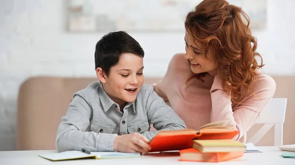
[[[200,1],[0,0],[0,150],[16,149],[18,92],[29,77],[95,78],[96,42],[125,30],[145,50],[145,76],[160,78],[184,52],[183,20]],[[253,20],[264,71],[295,75],[295,0],[229,2]]]

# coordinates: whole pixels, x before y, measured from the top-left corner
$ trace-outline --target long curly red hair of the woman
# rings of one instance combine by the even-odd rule
[[[202,45],[202,54],[214,56],[222,76],[223,89],[236,103],[249,91],[249,83],[257,76],[256,69],[264,66],[256,51],[257,41],[251,35],[249,17],[226,0],[203,0],[185,19],[185,29]],[[259,65],[255,57],[261,59]],[[195,74],[202,79],[206,73]]]

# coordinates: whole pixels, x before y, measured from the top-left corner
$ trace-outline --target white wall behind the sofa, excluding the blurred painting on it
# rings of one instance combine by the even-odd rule
[[[268,0],[267,29],[253,31],[269,74],[295,74],[294,0]],[[16,100],[29,76],[95,76],[102,33],[66,32],[61,0],[0,1],[0,150],[15,149]],[[184,33],[132,33],[146,52],[145,75],[163,76]]]

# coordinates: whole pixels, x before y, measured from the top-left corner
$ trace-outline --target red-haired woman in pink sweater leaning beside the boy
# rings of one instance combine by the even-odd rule
[[[188,13],[185,29],[186,52],[172,58],[154,91],[188,128],[229,120],[240,131],[235,140],[245,142],[276,88],[261,71],[247,15],[226,0],[204,0]]]

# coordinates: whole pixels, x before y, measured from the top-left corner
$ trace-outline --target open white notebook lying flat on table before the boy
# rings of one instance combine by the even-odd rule
[[[90,154],[86,154],[81,151],[65,151],[65,152],[59,152],[59,153],[41,154],[38,156],[51,161],[62,161],[62,160],[81,159],[81,158],[94,158],[94,159],[137,158],[137,157],[140,157],[140,153],[90,152]]]

